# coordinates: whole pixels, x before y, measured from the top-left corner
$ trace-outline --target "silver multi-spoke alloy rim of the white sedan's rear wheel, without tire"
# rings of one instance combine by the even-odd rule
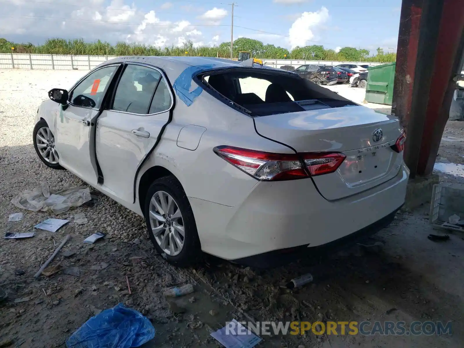
[[[174,198],[164,191],[155,192],[148,213],[156,243],[167,255],[179,255],[185,243],[185,228]]]

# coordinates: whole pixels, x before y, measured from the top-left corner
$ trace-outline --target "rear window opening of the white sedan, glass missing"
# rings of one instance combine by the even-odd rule
[[[357,105],[283,71],[234,68],[203,73],[197,78],[213,96],[252,117]]]

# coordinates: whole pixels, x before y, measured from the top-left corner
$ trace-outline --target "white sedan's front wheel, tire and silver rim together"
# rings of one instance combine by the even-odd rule
[[[59,155],[55,148],[55,136],[44,120],[40,120],[35,125],[32,132],[32,142],[34,143],[35,152],[47,167],[64,169],[58,163]]]

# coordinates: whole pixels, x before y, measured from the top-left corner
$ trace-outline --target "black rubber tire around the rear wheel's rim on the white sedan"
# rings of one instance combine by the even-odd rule
[[[158,245],[155,239],[153,231],[151,229],[149,219],[150,201],[153,195],[158,191],[164,191],[171,195],[175,203],[179,207],[180,213],[182,214],[183,226],[184,226],[184,245],[178,255],[170,256],[167,255]],[[147,224],[148,235],[150,236],[151,242],[155,246],[163,258],[166,259],[170,264],[178,267],[187,267],[196,264],[200,261],[201,256],[201,245],[200,239],[198,238],[197,226],[195,224],[195,218],[193,216],[192,207],[188,202],[187,195],[185,194],[179,180],[174,176],[164,176],[160,179],[155,180],[148,188],[147,196],[144,204],[144,215],[145,222]]]

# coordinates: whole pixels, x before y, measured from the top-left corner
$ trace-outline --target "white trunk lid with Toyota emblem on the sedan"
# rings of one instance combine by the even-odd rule
[[[395,116],[363,106],[300,111],[254,118],[259,135],[282,142],[296,152],[341,152],[346,159],[330,174],[314,176],[327,200],[360,193],[392,179],[402,153],[391,148],[401,134]],[[374,132],[381,129],[376,142]]]

